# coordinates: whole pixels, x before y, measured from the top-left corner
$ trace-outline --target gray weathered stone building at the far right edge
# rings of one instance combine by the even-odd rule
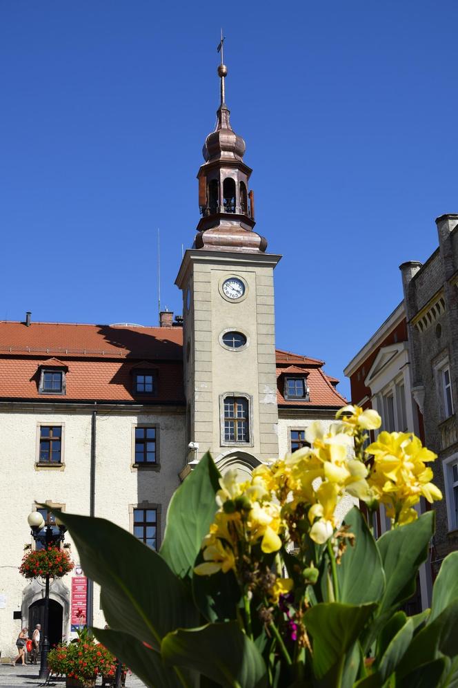
[[[435,504],[432,566],[458,548],[458,215],[436,220],[439,247],[421,265],[400,266],[408,322],[412,394],[444,500]]]

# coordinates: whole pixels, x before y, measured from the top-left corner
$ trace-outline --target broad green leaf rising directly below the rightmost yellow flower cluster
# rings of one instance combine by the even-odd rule
[[[417,571],[428,555],[428,542],[434,533],[434,511],[422,514],[417,521],[393,528],[377,540],[383,562],[386,589],[381,600],[381,613],[408,600]]]

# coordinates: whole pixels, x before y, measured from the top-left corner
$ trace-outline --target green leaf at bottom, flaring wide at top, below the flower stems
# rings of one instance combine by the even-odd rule
[[[332,673],[332,681],[334,676],[340,680],[346,653],[352,649],[376,606],[320,602],[305,613],[303,622],[312,636],[313,668],[318,679]]]

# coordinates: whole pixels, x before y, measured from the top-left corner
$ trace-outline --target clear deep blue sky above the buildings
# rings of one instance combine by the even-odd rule
[[[451,0],[3,0],[0,318],[157,324],[157,227],[181,312],[222,25],[277,345],[343,379],[458,211],[457,22]]]

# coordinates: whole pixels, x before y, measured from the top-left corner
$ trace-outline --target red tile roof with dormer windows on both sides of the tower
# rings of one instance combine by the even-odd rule
[[[278,349],[279,406],[326,406],[346,403],[323,370],[323,361]],[[68,366],[65,396],[54,401],[137,401],[183,403],[183,329],[25,323],[0,321],[0,398],[41,399],[39,367]],[[132,394],[132,372],[157,368],[157,396]],[[307,376],[310,401],[283,397],[283,374]]]

